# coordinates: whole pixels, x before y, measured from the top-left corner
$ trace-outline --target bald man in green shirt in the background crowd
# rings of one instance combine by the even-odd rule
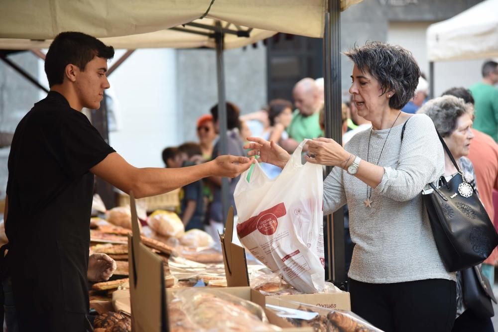
[[[319,94],[319,89],[312,78],[304,78],[294,86],[292,96],[297,110],[294,111],[287,132],[297,142],[301,142],[304,138],[323,136],[319,121],[322,98]]]

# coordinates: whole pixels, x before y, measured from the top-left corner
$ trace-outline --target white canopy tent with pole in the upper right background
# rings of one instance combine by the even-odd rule
[[[431,96],[434,62],[498,57],[498,0],[485,0],[427,28]]]

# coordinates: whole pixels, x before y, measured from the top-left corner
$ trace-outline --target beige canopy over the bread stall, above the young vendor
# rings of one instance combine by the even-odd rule
[[[341,10],[360,1],[341,0]],[[62,31],[85,31],[98,38],[130,36],[168,29],[204,16],[236,26],[322,37],[327,3],[327,0],[0,0],[0,38],[45,40]],[[154,46],[154,41],[163,40],[162,33],[146,37],[150,45],[147,47],[165,47]],[[130,39],[130,44],[133,41],[136,39]]]

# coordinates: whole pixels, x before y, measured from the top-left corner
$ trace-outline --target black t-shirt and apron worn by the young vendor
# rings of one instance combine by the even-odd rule
[[[57,92],[17,125],[8,157],[5,232],[21,331],[80,331],[89,308],[89,169],[112,152],[87,117]]]

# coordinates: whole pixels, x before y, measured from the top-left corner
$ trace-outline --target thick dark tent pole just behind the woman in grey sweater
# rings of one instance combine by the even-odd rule
[[[324,78],[325,78],[325,135],[342,143],[342,87],[341,87],[341,1],[329,0],[328,12],[325,14]],[[332,167],[327,167],[330,173]],[[327,216],[324,229],[326,237],[326,261],[328,263],[327,280],[343,286],[346,281],[345,247],[344,247],[344,213],[339,209]]]

